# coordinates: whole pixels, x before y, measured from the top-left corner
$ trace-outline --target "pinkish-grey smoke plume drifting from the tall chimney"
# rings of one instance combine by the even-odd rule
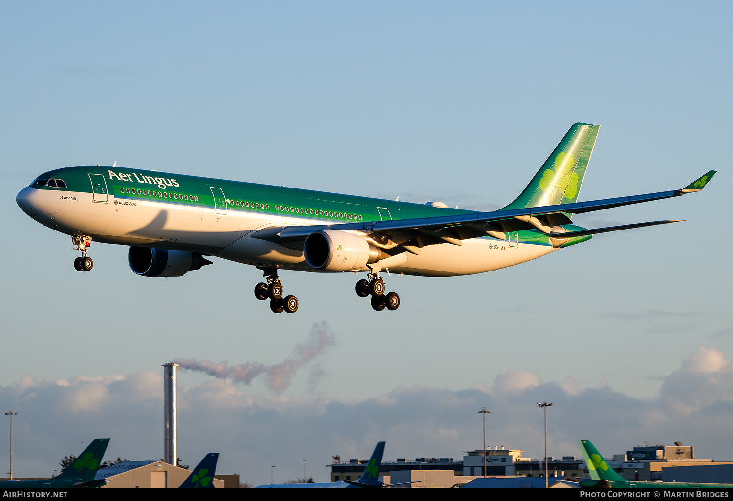
[[[334,344],[335,339],[334,334],[328,330],[328,324],[321,322],[320,324],[313,324],[309,340],[295,346],[292,350],[292,357],[274,365],[247,362],[228,367],[226,360],[215,364],[208,360],[199,362],[195,358],[189,360],[177,359],[174,362],[189,371],[201,371],[210,376],[243,382],[245,385],[249,385],[254,378],[262,375],[267,378],[266,384],[270,390],[275,393],[282,393],[290,386],[290,381],[295,372],[325,352],[328,346]]]

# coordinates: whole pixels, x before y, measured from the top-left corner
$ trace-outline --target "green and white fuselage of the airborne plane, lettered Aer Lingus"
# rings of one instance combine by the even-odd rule
[[[302,271],[319,270],[306,263],[303,251],[251,234],[271,226],[358,226],[360,222],[475,212],[104,166],[61,168],[38,179],[62,179],[67,188],[29,186],[18,193],[18,203],[29,208],[26,212],[35,220],[56,231],[86,234],[95,242],[203,253]],[[577,241],[587,238],[577,237]],[[546,234],[531,229],[509,232],[506,240],[486,236],[464,240],[463,245],[430,245],[419,256],[402,252],[382,259],[381,265],[410,275],[470,275],[555,250]],[[356,270],[368,268],[362,265]]]

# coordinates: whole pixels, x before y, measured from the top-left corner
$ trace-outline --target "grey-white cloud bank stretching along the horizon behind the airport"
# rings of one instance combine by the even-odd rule
[[[328,335],[312,337],[292,360],[315,356]],[[320,346],[320,347],[319,347]],[[316,373],[318,370],[316,369]],[[261,373],[265,374],[265,373]],[[303,374],[307,378],[309,374]],[[13,421],[15,471],[50,475],[81,441],[111,438],[108,457],[158,459],[163,452],[161,374],[78,376],[47,382],[24,376],[0,387],[0,406],[20,412]],[[327,480],[332,455],[366,458],[386,440],[386,459],[454,457],[480,448],[482,407],[491,446],[542,455],[542,409],[548,409],[553,456],[578,456],[577,439],[592,439],[605,455],[623,453],[645,440],[695,445],[704,459],[729,460],[733,418],[733,363],[701,346],[663,380],[655,398],[631,398],[608,385],[578,388],[570,378],[543,382],[531,371],[507,371],[490,384],[463,390],[416,385],[361,401],[262,395],[233,377],[178,387],[178,450],[188,464],[221,453],[222,473],[268,483],[309,473]],[[7,428],[5,428],[7,431]],[[0,429],[0,434],[4,431]]]

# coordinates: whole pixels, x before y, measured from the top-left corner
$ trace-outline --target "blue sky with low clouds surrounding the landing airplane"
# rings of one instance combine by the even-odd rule
[[[732,459],[731,237],[715,230],[732,9],[2,2],[0,409],[20,412],[15,474],[50,475],[97,437],[113,459],[161,457],[170,360],[188,363],[179,455],[220,452],[219,470],[249,483],[273,465],[276,481],[302,475],[304,459],[325,481],[332,455],[368,457],[379,440],[386,459],[460,457],[481,447],[484,406],[490,443],[539,457],[538,401],[555,403],[554,456],[591,439],[607,456],[682,441]],[[681,223],[483,275],[388,276],[397,311],[372,311],[353,275],[282,272],[300,307],[273,315],[252,267],[142,278],[128,248],[100,243],[80,274],[70,238],[15,204],[45,171],[116,161],[496,209],[574,122],[600,125],[579,200],[718,174],[702,193],[575,218]]]

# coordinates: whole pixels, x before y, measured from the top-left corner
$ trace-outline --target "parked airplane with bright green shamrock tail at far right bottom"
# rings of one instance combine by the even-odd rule
[[[608,466],[589,440],[578,440],[591,480],[581,481],[584,489],[733,489],[733,483],[634,482]]]

